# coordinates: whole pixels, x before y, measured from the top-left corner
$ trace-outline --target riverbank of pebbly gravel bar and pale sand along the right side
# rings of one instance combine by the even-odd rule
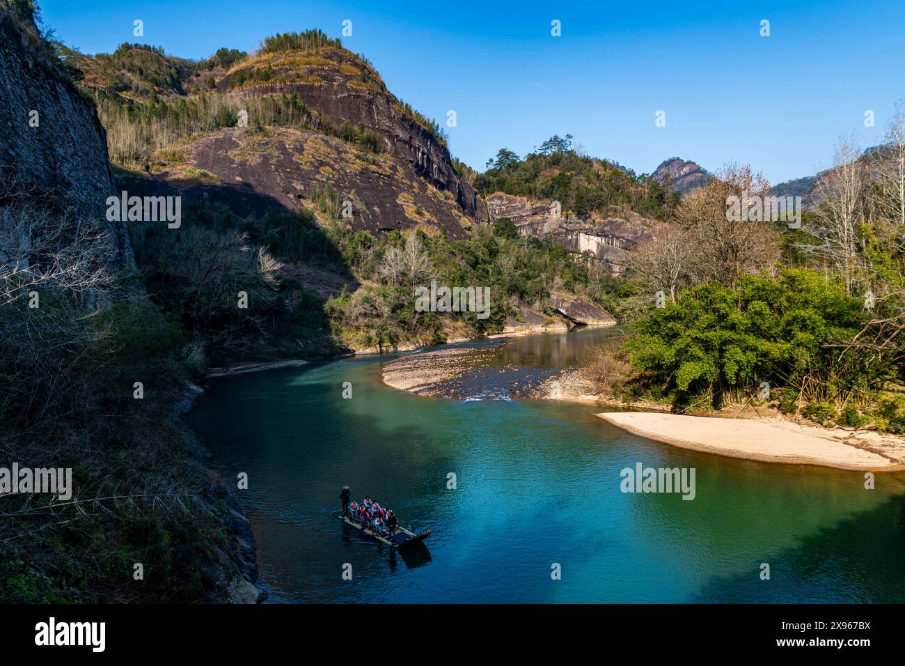
[[[512,373],[513,367],[498,343],[406,355],[387,362],[381,378],[399,391],[434,398],[486,399],[489,395],[630,409],[634,411],[597,416],[646,439],[729,458],[863,471],[905,470],[905,438],[898,436],[828,429],[787,420],[770,410],[765,416],[763,409],[686,416],[669,413],[652,401],[626,403],[602,388],[610,374],[620,374],[619,368],[606,363],[566,368],[539,383]],[[500,381],[506,384],[503,391]],[[482,385],[488,382],[493,390],[483,391]]]

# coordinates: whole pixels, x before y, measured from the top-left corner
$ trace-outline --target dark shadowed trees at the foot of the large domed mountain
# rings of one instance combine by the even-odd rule
[[[148,294],[185,336],[195,379],[209,366],[339,351],[325,299],[292,277],[298,265],[349,277],[310,213],[258,219],[223,206],[189,208],[178,234],[136,225],[132,242]]]

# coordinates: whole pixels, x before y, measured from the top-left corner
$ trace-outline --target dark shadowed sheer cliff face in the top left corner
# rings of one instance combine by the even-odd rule
[[[0,207],[26,201],[68,211],[107,236],[112,268],[132,263],[126,227],[106,220],[113,193],[97,113],[40,39],[0,2]],[[0,233],[8,229],[0,229]]]

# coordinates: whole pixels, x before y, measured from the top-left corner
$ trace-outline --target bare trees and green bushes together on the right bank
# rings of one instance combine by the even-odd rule
[[[764,404],[767,382],[787,413],[902,432],[905,224],[891,185],[905,174],[874,169],[854,184],[851,164],[824,175],[824,203],[795,231],[727,218],[729,195],[769,191],[747,168],[686,196],[677,226],[633,257],[637,293],[661,303],[633,323],[625,389],[675,410],[719,409]]]

